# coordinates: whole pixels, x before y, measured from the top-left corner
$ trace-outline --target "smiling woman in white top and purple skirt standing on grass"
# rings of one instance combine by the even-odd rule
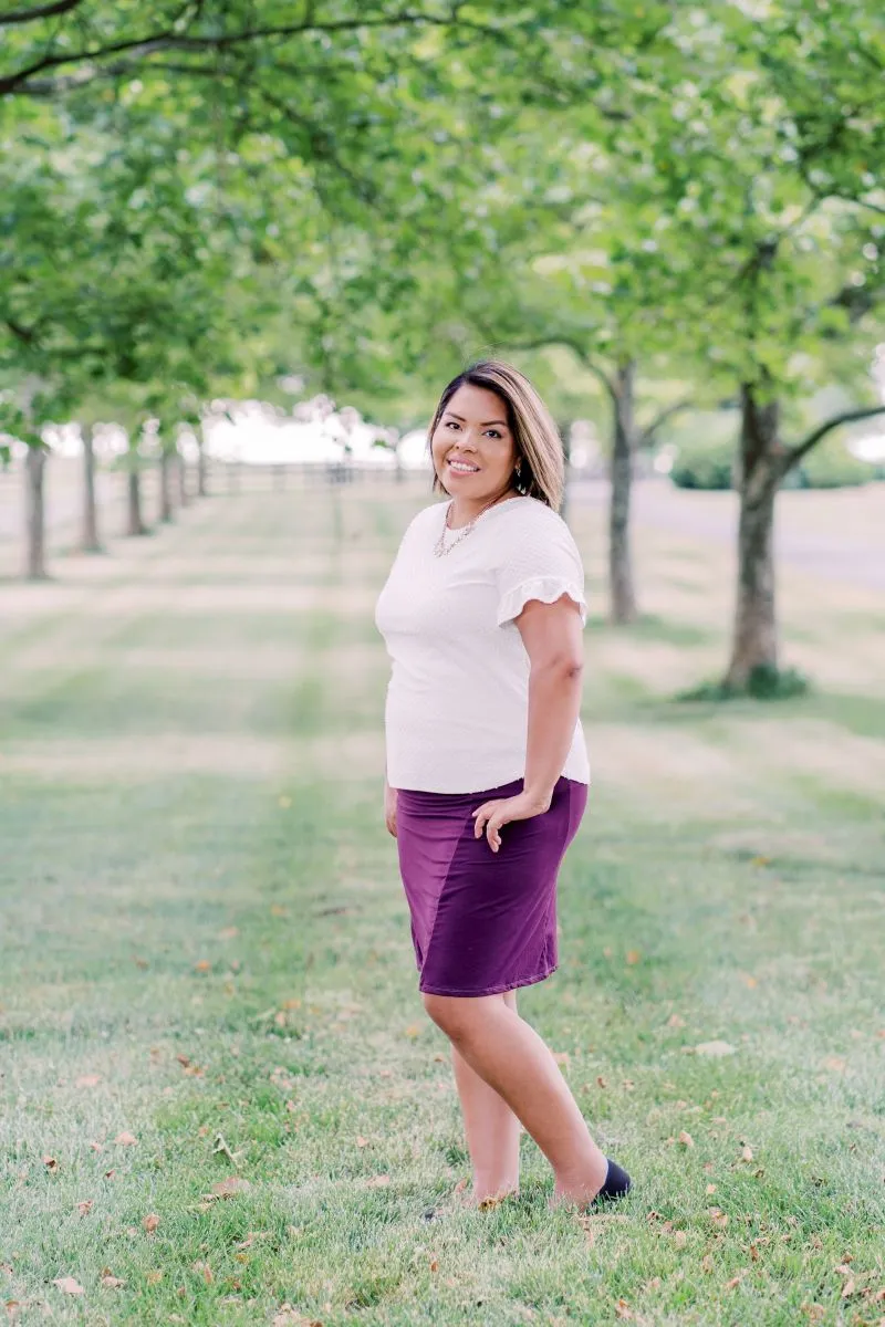
[[[630,1180],[593,1143],[516,989],[557,966],[556,876],[586,805],[584,569],[557,515],[563,446],[531,384],[486,361],[442,394],[434,503],[409,525],[375,622],[393,670],[385,817],[425,1009],[451,1042],[476,1205],[519,1189],[520,1123],[553,1202]]]

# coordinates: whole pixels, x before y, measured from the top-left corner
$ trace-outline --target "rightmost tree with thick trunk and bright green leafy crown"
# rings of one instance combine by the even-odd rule
[[[865,0],[787,0],[762,31],[727,13],[727,62],[698,77],[650,126],[669,182],[667,228],[699,281],[686,312],[710,374],[740,399],[738,585],[728,693],[776,686],[775,500],[787,474],[835,429],[885,407],[869,399],[807,429],[821,381],[870,393],[885,279],[885,131],[869,69],[881,28]],[[719,48],[722,50],[722,48]]]

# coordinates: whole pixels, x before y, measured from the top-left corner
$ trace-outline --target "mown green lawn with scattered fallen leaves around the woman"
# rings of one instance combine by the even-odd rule
[[[381,819],[372,612],[423,500],[219,496],[0,587],[11,1319],[885,1322],[881,596],[788,568],[815,694],[679,706],[727,548],[640,531],[647,616],[612,630],[576,507],[594,790],[520,1009],[634,1190],[551,1214],[524,1137],[476,1213]]]

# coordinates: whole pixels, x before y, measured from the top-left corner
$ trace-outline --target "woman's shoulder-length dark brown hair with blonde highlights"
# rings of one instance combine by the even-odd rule
[[[452,378],[439,398],[427,435],[429,446],[448,402],[466,384],[494,391],[507,409],[507,426],[520,462],[519,492],[537,498],[553,511],[559,511],[565,487],[563,441],[540,395],[512,364],[504,364],[502,360],[480,360]],[[434,492],[447,491],[434,470]]]

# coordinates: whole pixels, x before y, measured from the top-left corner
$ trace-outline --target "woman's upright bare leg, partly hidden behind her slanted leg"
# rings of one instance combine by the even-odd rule
[[[516,991],[504,991],[496,998],[516,1013]],[[454,1042],[451,1063],[474,1168],[472,1201],[479,1204],[516,1193],[521,1124],[503,1096],[470,1067]]]

